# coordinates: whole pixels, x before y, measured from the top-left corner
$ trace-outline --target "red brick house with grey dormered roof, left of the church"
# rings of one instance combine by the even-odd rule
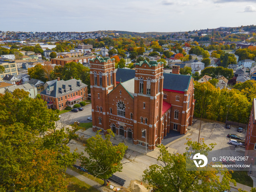
[[[41,98],[47,101],[49,109],[63,110],[67,106],[73,107],[76,103],[84,101],[88,97],[87,85],[81,80],[60,80],[48,86],[41,93]]]

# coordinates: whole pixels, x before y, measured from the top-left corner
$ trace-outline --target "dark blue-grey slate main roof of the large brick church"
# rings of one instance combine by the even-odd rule
[[[116,71],[116,81],[126,82],[135,77],[135,70],[118,68]],[[190,75],[163,73],[163,89],[184,91],[188,89],[191,81]],[[123,83],[122,83],[123,84]],[[126,86],[125,86],[126,87]],[[133,91],[134,93],[134,91]]]

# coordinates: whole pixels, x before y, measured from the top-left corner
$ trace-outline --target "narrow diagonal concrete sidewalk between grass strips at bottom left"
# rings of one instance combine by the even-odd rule
[[[111,192],[112,191],[112,190],[104,187],[103,185],[98,184],[96,181],[93,181],[87,177],[84,177],[79,173],[76,173],[72,169],[67,168],[66,173],[78,178],[79,180],[85,182],[86,184],[90,185],[91,187],[93,187],[95,189],[98,189],[99,191],[102,191],[102,192]]]

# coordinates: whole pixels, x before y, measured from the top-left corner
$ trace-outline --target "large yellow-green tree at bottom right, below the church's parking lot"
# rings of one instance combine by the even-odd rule
[[[201,140],[202,142],[203,140]],[[188,146],[193,150],[211,151],[214,144],[208,147],[206,144],[188,141]],[[219,192],[229,190],[229,183],[236,181],[231,179],[231,175],[221,168],[210,168],[204,171],[187,171],[186,154],[170,154],[163,145],[158,146],[160,155],[158,164],[150,165],[144,170],[143,181],[147,182],[155,191],[173,192]],[[220,181],[219,175],[223,178]]]

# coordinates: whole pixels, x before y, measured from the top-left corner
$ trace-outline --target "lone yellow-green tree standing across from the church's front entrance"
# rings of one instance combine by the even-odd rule
[[[89,157],[81,157],[82,166],[84,166],[95,177],[104,180],[104,185],[107,185],[107,179],[116,172],[121,172],[123,166],[121,160],[124,157],[127,146],[124,143],[119,143],[113,146],[110,141],[114,133],[108,129],[108,134],[105,135],[105,140],[99,132],[95,137],[91,137],[85,144],[85,152]]]

